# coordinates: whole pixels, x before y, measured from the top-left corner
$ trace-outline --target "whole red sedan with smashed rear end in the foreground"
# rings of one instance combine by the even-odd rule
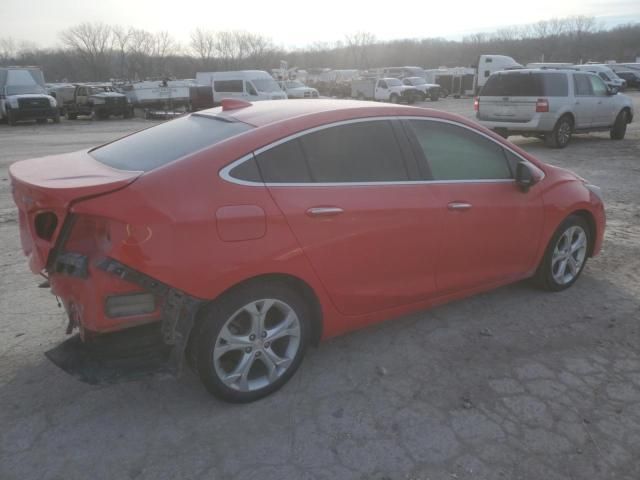
[[[236,402],[320,339],[528,277],[568,288],[605,228],[575,174],[459,116],[368,102],[224,101],[10,174],[70,330],[155,323]]]

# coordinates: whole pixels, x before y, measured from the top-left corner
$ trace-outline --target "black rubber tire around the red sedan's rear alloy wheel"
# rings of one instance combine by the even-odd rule
[[[244,306],[251,304],[252,302],[259,302],[262,299],[275,299],[289,307],[295,313],[300,327],[299,343],[288,367],[286,367],[286,370],[284,370],[276,380],[266,386],[256,388],[254,390],[241,391],[239,387],[232,388],[225,384],[217,373],[214,361],[212,360],[214,350],[217,345],[218,347],[220,346],[219,342],[222,340],[219,338],[219,335],[225,324],[227,324],[227,322],[232,318],[238,318],[236,316],[237,312],[241,311]],[[269,312],[271,312],[271,310],[269,310]],[[194,335],[196,335],[196,337],[192,339],[191,345],[195,350],[192,352],[192,355],[195,359],[196,371],[207,390],[214,396],[227,402],[253,402],[281,388],[293,376],[302,363],[311,332],[311,310],[298,293],[282,283],[249,283],[231,290],[222,298],[215,301],[210,308],[203,313],[201,323],[197,329],[194,330]],[[261,343],[260,346],[255,348],[252,355],[259,355],[258,350],[263,347],[266,349],[268,344],[264,343],[263,345]],[[246,351],[243,352],[242,350],[236,349],[221,355],[220,358],[222,359],[225,355],[234,355],[236,353],[242,355],[242,358],[245,358],[248,354]],[[266,356],[267,355],[265,354],[264,358],[266,358]],[[248,374],[254,372],[254,369],[256,368],[258,371],[254,373],[260,373],[261,369],[266,369],[266,363],[263,359],[256,359],[251,362]],[[256,362],[259,362],[257,367]],[[239,364],[240,360],[238,360],[236,368]]]

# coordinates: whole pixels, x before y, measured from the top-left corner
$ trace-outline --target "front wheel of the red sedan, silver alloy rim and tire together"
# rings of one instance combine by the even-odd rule
[[[578,215],[569,216],[551,237],[535,282],[545,290],[559,292],[573,285],[587,263],[589,226]]]

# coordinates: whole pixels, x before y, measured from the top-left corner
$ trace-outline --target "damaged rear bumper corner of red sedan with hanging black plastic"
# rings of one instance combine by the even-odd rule
[[[52,291],[62,298],[69,317],[69,330],[78,326],[81,332],[47,352],[56,365],[89,383],[181,372],[203,300],[112,258],[93,264],[83,255],[65,252],[56,257],[50,273]],[[110,318],[104,307],[107,294],[118,292],[151,293],[157,307],[150,314]]]

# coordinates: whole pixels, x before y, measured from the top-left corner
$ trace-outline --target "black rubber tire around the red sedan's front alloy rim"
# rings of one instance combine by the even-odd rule
[[[579,265],[579,269],[575,276],[573,276],[571,280],[565,283],[561,283],[554,276],[554,251],[556,249],[556,246],[558,246],[558,242],[563,234],[574,227],[578,227],[585,234],[586,240],[584,257]],[[579,215],[570,215],[569,217],[567,217],[551,237],[549,245],[547,245],[547,249],[545,250],[544,257],[542,257],[542,261],[540,262],[540,265],[538,265],[538,269],[535,273],[535,276],[533,277],[534,282],[538,285],[538,287],[550,292],[559,292],[569,288],[576,282],[576,280],[578,280],[580,274],[582,273],[582,270],[584,269],[584,266],[587,264],[591,242],[591,230],[589,228],[589,225],[587,224],[587,221]]]

